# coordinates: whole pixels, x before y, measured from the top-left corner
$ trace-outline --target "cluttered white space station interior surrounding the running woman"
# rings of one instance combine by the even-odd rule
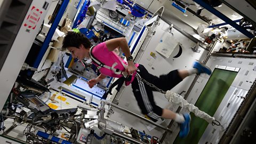
[[[0,143],[256,143],[255,1],[2,0],[0,7]],[[133,62],[155,76],[196,60],[210,68],[168,91],[136,77],[155,90],[156,105],[190,114],[188,135],[179,137],[173,119],[142,114],[132,86],[114,85],[118,78],[90,88],[99,68],[62,49],[68,31],[92,45],[124,37]],[[128,59],[122,47],[114,52]]]

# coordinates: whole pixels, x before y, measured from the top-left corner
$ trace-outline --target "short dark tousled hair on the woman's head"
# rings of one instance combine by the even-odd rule
[[[62,44],[62,50],[66,50],[67,47],[77,47],[78,49],[81,44],[83,44],[86,49],[91,47],[91,42],[84,34],[75,33],[74,31],[68,31]]]

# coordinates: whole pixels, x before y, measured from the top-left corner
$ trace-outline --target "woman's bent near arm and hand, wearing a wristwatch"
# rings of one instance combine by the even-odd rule
[[[132,55],[129,49],[129,45],[124,37],[110,39],[106,41],[106,45],[109,51],[115,50],[116,47],[121,47],[126,58]],[[128,60],[127,62],[128,62],[128,66],[126,67],[126,71],[129,75],[131,75],[137,70],[137,68],[134,66],[134,63],[132,60]]]

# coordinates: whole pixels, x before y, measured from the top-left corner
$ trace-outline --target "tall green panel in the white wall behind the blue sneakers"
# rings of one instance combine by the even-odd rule
[[[213,116],[215,111],[220,105],[220,102],[227,93],[229,87],[233,83],[237,72],[214,69],[209,81],[206,83],[202,93],[200,94],[195,106],[205,113]],[[196,117],[193,113],[191,115],[190,132],[188,137],[181,139],[177,137],[174,143],[177,144],[197,144],[201,139],[208,123],[199,117]]]

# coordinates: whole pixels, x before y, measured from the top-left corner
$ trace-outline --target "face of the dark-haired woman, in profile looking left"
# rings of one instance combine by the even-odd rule
[[[78,48],[77,47],[68,47],[67,49],[68,49],[68,51],[71,52],[71,55],[74,59],[82,60],[85,57],[86,58],[90,57],[90,54],[89,54],[90,51],[85,49],[83,47],[83,45],[79,46]]]

